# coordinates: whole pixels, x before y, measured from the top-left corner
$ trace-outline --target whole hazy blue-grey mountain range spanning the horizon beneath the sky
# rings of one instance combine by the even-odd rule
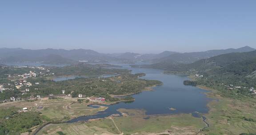
[[[0,48],[0,62],[44,62],[47,64],[76,64],[79,60],[92,61],[137,61],[145,60],[154,63],[192,63],[196,60],[232,52],[250,52],[254,48],[245,46],[237,49],[209,50],[205,52],[170,52],[159,54],[138,54],[132,52],[104,54],[86,49],[39,49]]]

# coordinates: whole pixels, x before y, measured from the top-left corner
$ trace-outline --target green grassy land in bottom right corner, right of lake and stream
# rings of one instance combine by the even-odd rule
[[[206,93],[212,99],[210,111],[205,114],[210,127],[203,133],[208,135],[239,135],[256,133],[256,102],[253,98],[243,100],[221,97],[219,91]]]

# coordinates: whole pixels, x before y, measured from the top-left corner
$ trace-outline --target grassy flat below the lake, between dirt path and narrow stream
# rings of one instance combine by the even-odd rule
[[[126,116],[113,119],[124,134],[143,135],[172,131],[174,128],[184,128],[195,133],[205,126],[201,118],[193,117],[191,114]]]

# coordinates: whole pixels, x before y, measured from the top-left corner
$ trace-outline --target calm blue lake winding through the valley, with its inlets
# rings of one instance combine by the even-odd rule
[[[132,95],[135,98],[133,102],[120,102],[108,106],[105,111],[100,111],[96,115],[81,116],[68,121],[68,123],[77,121],[87,121],[88,119],[104,118],[112,114],[120,114],[116,111],[119,108],[126,109],[144,109],[147,115],[164,115],[164,114],[180,114],[180,113],[192,113],[194,116],[198,116],[197,113],[207,113],[208,107],[207,103],[212,99],[206,97],[204,92],[206,90],[187,86],[183,84],[184,80],[188,78],[185,76],[178,75],[165,75],[162,70],[152,69],[152,68],[140,68],[140,67],[130,67],[129,64],[119,64],[119,63],[108,63],[118,66],[119,68],[132,70],[132,73],[146,73],[146,76],[141,77],[141,79],[156,79],[162,81],[164,84],[154,87],[153,91],[143,91],[138,94]],[[136,63],[136,64],[147,64],[147,63]],[[7,64],[10,65],[10,64]],[[47,64],[34,64],[34,63],[24,63],[15,64],[15,66],[52,66]],[[61,65],[63,66],[63,65]],[[114,67],[116,68],[116,67]],[[60,77],[56,81],[73,79],[77,76],[71,76],[71,78]],[[91,107],[97,107],[91,105]],[[169,108],[175,108],[172,111]],[[121,114],[120,114],[121,115]]]

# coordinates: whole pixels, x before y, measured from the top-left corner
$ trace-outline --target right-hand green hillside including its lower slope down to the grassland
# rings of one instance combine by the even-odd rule
[[[256,51],[214,56],[192,64],[166,65],[160,65],[165,66],[165,73],[203,75],[194,77],[197,85],[213,87],[228,97],[250,95],[251,87],[256,87]]]

